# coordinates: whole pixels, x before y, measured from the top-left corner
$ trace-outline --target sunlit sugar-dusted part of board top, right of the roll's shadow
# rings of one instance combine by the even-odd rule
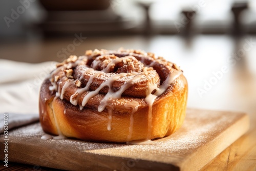
[[[191,111],[192,112],[192,111]],[[210,113],[200,113],[193,115],[187,112],[187,118],[181,129],[175,134],[162,139],[154,140],[153,145],[125,145],[114,149],[93,150],[90,153],[108,154],[111,156],[128,156],[133,158],[140,156],[143,159],[156,159],[154,156],[168,154],[170,157],[189,155],[197,148],[207,144],[223,130],[225,130],[234,120],[236,115],[220,115],[211,111]],[[195,111],[196,112],[196,111]],[[209,114],[210,117],[209,117]],[[148,155],[150,154],[150,155]],[[169,160],[159,157],[159,160]]]

